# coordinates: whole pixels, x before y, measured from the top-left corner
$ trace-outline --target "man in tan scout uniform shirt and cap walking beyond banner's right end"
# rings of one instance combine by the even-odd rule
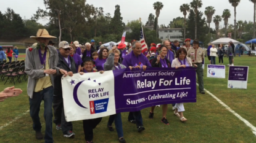
[[[192,64],[197,65],[196,73],[197,80],[199,84],[199,91],[201,94],[205,94],[204,92],[204,71],[202,68],[202,61],[204,60],[204,50],[199,47],[198,39],[194,39],[193,48],[188,50],[188,57],[191,58]]]

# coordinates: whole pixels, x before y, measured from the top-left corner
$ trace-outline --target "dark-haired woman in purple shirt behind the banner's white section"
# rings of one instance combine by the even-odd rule
[[[109,53],[109,49],[107,48],[101,48],[101,50],[99,51],[99,58],[95,60],[95,66],[97,71],[104,71],[104,63],[105,61],[107,61],[108,53]]]

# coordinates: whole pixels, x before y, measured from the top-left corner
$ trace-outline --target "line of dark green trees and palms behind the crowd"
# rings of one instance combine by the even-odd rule
[[[116,5],[114,16],[110,13],[105,14],[103,7],[94,7],[86,3],[86,0],[65,1],[65,0],[43,0],[44,8],[36,10],[33,17],[23,20],[14,10],[7,8],[3,14],[0,12],[0,38],[8,40],[16,40],[22,37],[35,35],[37,29],[46,28],[50,34],[58,37],[58,41],[81,41],[86,42],[90,39],[96,41],[109,42],[120,41],[125,26],[131,26],[132,32],[126,33],[126,41],[133,39],[139,40],[140,25],[138,20],[130,23],[123,23],[123,17],[120,13],[121,7]],[[160,42],[159,28],[182,28],[183,39],[198,38],[200,41],[210,42],[218,37],[226,37],[228,33],[232,33],[233,39],[244,42],[255,37],[255,4],[254,2],[254,21],[234,22],[234,25],[228,23],[231,17],[229,9],[223,10],[222,15],[215,14],[212,6],[205,8],[202,12],[199,9],[203,3],[201,0],[193,0],[190,4],[182,4],[180,11],[184,17],[176,17],[170,21],[170,24],[160,25],[158,18],[160,11],[163,9],[162,2],[154,2],[152,9],[154,14],[149,14],[147,22],[144,26],[154,26],[154,31],[144,28],[144,33],[148,44],[151,42]],[[234,18],[236,21],[236,7],[240,0],[229,0],[231,6],[234,7]],[[204,17],[206,16],[206,17]],[[37,23],[39,19],[46,19],[49,22],[46,25]],[[223,20],[225,27],[221,28],[220,23]],[[215,29],[210,28],[210,23],[215,23]]]

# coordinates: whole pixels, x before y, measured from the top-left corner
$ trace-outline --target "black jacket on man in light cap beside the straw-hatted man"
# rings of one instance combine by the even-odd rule
[[[71,69],[68,67],[68,64],[64,61],[65,59],[63,58],[62,55],[59,53],[59,62],[57,64],[57,67],[60,69],[64,69],[65,71],[69,72],[72,71],[73,74],[76,74],[76,68],[75,68],[75,61],[73,60],[72,56],[68,55],[70,58],[70,64],[71,64]],[[56,96],[62,96],[62,86],[61,86],[61,75],[56,75],[54,77],[54,95]]]

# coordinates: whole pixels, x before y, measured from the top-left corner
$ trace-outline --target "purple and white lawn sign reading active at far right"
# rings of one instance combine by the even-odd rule
[[[249,66],[229,66],[228,88],[247,89]]]

